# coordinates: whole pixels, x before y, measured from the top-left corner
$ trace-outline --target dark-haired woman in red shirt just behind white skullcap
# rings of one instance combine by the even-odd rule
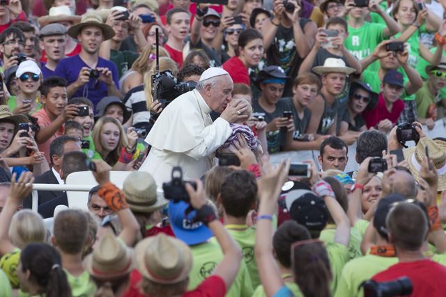
[[[226,70],[234,84],[251,85],[249,68],[256,67],[263,56],[263,37],[259,31],[247,29],[238,38],[236,56],[226,61],[222,68]]]

